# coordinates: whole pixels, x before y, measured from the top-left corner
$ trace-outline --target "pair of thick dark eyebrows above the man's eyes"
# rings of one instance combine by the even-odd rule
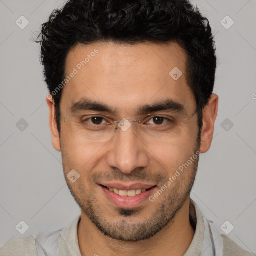
[[[111,114],[115,114],[115,109],[101,103],[98,101],[92,101],[90,99],[82,99],[76,103],[73,103],[70,107],[71,113],[76,113],[82,110],[92,110],[92,111],[100,111],[107,112]],[[153,104],[145,104],[136,109],[136,113],[138,115],[148,114],[151,112],[157,111],[177,111],[177,112],[185,112],[185,107],[178,101],[173,99],[164,99],[162,101],[154,102]]]

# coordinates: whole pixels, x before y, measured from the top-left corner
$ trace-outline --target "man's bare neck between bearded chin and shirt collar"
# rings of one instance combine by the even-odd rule
[[[81,212],[78,224],[78,243],[82,256],[110,255],[184,255],[193,236],[194,229],[189,221],[189,197],[167,226],[153,237],[138,242],[123,242],[103,235]]]

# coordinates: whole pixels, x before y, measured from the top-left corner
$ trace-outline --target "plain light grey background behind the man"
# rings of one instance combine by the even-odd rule
[[[80,214],[64,180],[61,155],[51,144],[40,48],[30,39],[63,2],[0,0],[1,245],[65,227]],[[212,146],[200,156],[191,198],[220,232],[230,221],[234,229],[229,237],[256,252],[256,1],[192,2],[215,34],[219,110]],[[29,21],[24,29],[15,24],[21,15]],[[229,29],[220,23],[226,15],[234,21]],[[23,131],[16,127],[21,118],[29,124]],[[222,124],[226,118],[234,124],[228,131]],[[15,229],[21,220],[29,226],[23,235]]]

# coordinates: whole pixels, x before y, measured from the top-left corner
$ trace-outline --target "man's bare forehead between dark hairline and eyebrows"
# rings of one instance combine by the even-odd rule
[[[126,113],[166,98],[195,107],[185,78],[186,58],[184,49],[174,42],[79,43],[66,57],[69,79],[60,107],[68,109],[85,97]]]

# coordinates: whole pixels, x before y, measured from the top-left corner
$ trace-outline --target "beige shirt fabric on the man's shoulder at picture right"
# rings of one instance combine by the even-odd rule
[[[255,256],[256,254],[248,252],[237,245],[228,236],[221,234],[223,239],[223,256]]]

